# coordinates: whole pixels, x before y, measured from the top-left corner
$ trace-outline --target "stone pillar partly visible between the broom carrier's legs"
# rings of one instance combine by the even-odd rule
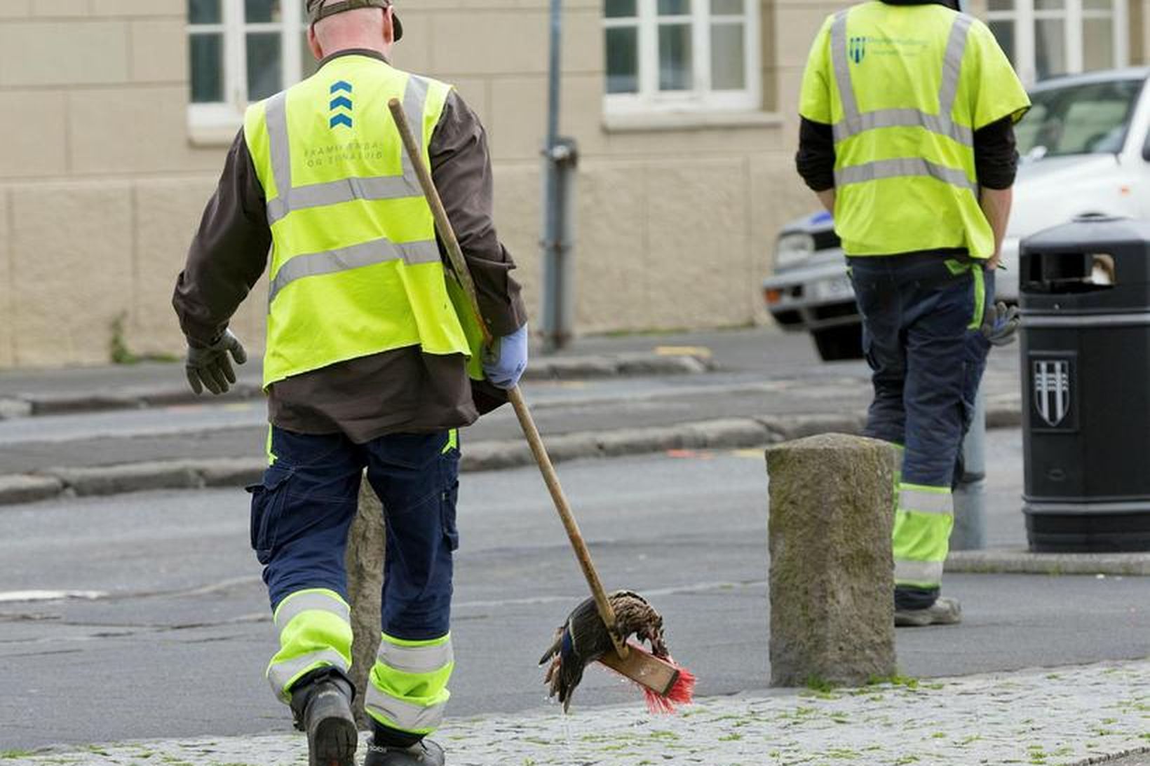
[[[379,650],[379,608],[383,588],[383,505],[363,476],[359,513],[347,533],[347,596],[352,605],[352,682],[355,684],[355,719],[361,728],[370,720],[363,712],[368,673]]]

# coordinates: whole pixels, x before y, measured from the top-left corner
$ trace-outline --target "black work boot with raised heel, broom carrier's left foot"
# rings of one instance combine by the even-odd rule
[[[339,671],[321,668],[292,685],[296,728],[307,734],[308,766],[354,766],[359,733],[352,715],[355,690]]]

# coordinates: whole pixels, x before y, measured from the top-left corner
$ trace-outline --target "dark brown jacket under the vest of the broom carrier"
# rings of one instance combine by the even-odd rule
[[[340,55],[369,55],[343,51]],[[454,91],[447,98],[429,147],[431,177],[475,281],[480,308],[496,336],[527,321],[515,263],[493,223],[491,159],[475,113]],[[243,130],[208,201],[172,305],[192,345],[207,345],[228,327],[239,304],[267,268],[271,229],[267,198]],[[296,375],[268,390],[269,420],[301,434],[344,432],[355,442],[384,434],[420,432],[473,423],[505,401],[493,386],[471,384],[460,354],[397,348]]]

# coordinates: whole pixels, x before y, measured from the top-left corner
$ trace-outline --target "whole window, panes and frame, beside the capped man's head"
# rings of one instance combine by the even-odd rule
[[[244,109],[315,71],[300,0],[187,0],[189,116],[235,129]]]

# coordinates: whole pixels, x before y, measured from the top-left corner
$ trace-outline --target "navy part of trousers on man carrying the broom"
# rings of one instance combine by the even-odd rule
[[[289,595],[328,589],[347,600],[344,553],[360,477],[383,503],[383,625],[389,636],[429,641],[451,622],[452,552],[459,545],[454,431],[396,434],[355,444],[342,434],[271,430],[271,455],[252,492],[252,547],[271,608]]]

